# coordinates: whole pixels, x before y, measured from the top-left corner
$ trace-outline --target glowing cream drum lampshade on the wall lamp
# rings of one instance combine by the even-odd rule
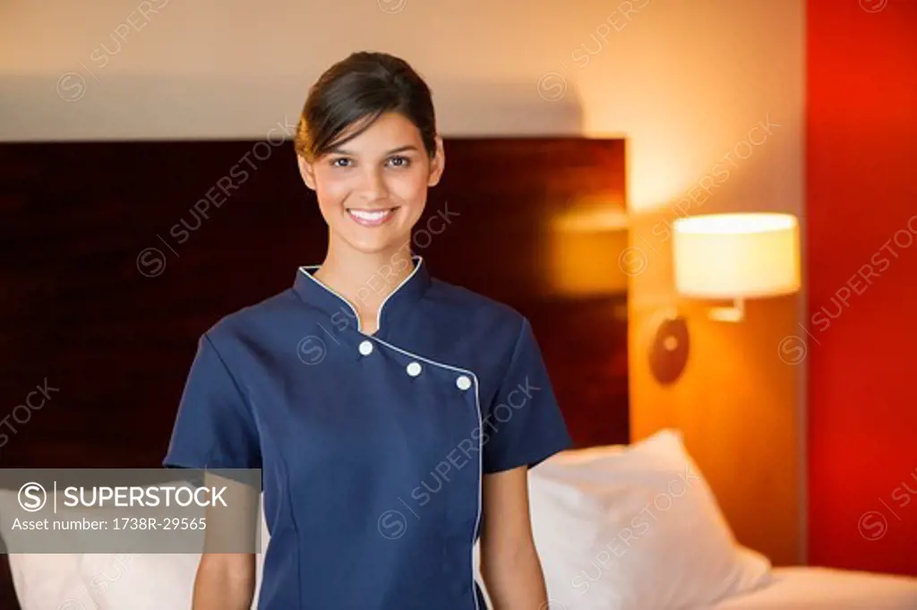
[[[674,223],[675,286],[696,298],[746,298],[800,288],[799,222],[789,214],[711,214]]]

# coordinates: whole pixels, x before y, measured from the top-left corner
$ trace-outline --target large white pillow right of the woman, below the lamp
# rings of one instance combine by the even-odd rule
[[[559,453],[531,471],[529,493],[552,609],[678,610],[769,582],[677,431]]]

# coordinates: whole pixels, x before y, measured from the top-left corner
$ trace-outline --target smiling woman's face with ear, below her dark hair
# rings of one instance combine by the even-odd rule
[[[313,162],[300,158],[299,163],[332,238],[362,252],[387,253],[411,239],[426,189],[439,182],[444,153],[437,137],[431,159],[414,123],[386,113],[356,138]]]

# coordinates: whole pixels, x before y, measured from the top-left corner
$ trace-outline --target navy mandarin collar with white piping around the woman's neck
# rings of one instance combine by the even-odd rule
[[[379,306],[379,311],[376,312],[379,330],[387,327],[387,321],[395,313],[414,305],[430,285],[430,273],[427,270],[424,258],[414,254],[411,257],[411,261],[414,263],[414,270],[404,278],[402,283],[395,286],[391,294],[385,297],[385,300]],[[334,316],[335,314],[355,316],[358,320],[357,330],[362,332],[359,327],[359,316],[354,305],[342,294],[338,294],[333,288],[326,283],[320,282],[313,275],[319,267],[320,265],[304,265],[300,267],[293,282],[293,291],[299,294],[306,304],[314,306],[328,316]],[[369,284],[370,282],[368,281],[368,287]]]

